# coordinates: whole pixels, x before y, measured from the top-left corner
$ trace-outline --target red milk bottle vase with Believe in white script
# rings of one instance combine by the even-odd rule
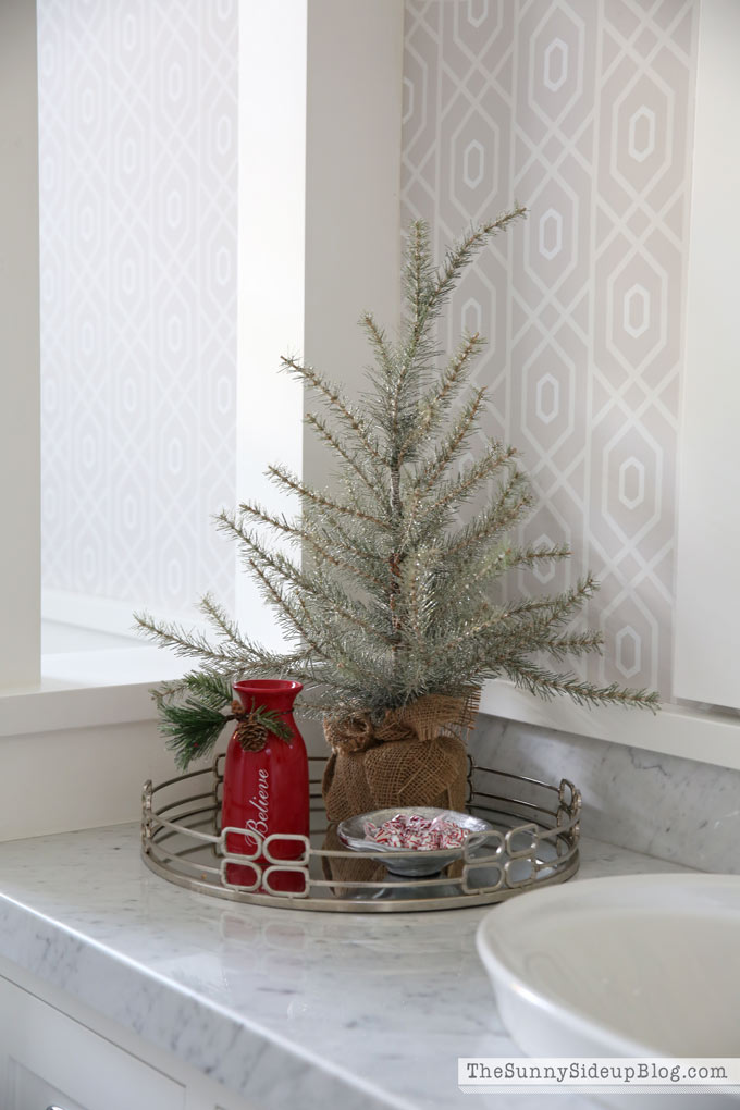
[[[234,693],[247,713],[260,707],[278,714],[287,725],[292,738],[282,740],[267,733],[262,750],[244,750],[239,728],[226,749],[224,766],[223,805],[221,827],[252,829],[262,839],[273,833],[293,833],[308,836],[308,758],[303,737],[293,719],[293,703],[303,689],[301,683],[261,678],[234,683]],[[255,841],[239,833],[226,834],[229,852],[252,855]],[[276,859],[298,859],[304,851],[300,841],[282,841],[270,846]],[[264,856],[257,864],[264,870],[272,866]],[[226,865],[226,879],[240,886],[253,886],[256,871],[249,864]],[[270,882],[274,890],[301,892],[302,875],[273,874]],[[264,890],[264,887],[260,889]]]

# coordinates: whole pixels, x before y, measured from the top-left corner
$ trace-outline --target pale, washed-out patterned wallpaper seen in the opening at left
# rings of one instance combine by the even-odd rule
[[[236,0],[39,0],[43,584],[233,599]]]

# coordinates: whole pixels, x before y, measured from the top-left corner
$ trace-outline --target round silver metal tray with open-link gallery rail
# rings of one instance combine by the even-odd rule
[[[484,817],[493,830],[476,835],[475,847],[459,850],[439,877],[399,878],[385,872],[359,879],[358,861],[383,865],[383,852],[358,854],[326,848],[331,827],[321,800],[326,760],[308,757],[311,837],[298,841],[301,856],[290,864],[271,855],[282,837],[265,840],[250,831],[253,858],[226,850],[220,827],[223,755],[211,767],[144,785],[142,856],[152,871],[170,882],[216,898],[284,909],[334,912],[399,912],[459,909],[504,901],[535,887],[565,882],[578,870],[580,793],[562,779],[558,786],[470,763],[467,810]],[[246,835],[246,830],[241,829]],[[409,858],[414,851],[408,852]],[[261,867],[264,857],[268,867]],[[418,858],[418,856],[417,856]],[[251,888],[230,881],[230,865],[247,865]],[[301,876],[300,892],[271,886],[280,872]],[[294,880],[298,884],[298,879]]]

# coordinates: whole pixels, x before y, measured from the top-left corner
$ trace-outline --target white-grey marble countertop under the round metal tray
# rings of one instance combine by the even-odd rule
[[[680,869],[581,844],[584,878]],[[136,826],[0,845],[0,955],[265,1110],[469,1106],[459,1056],[520,1056],[475,951],[487,912],[223,902],[150,872]],[[475,1104],[494,1100],[537,1106]]]

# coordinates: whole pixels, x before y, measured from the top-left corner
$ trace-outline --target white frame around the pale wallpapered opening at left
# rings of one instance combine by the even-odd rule
[[[3,352],[3,362],[22,357],[27,367],[19,383],[2,375],[13,400],[12,414],[10,403],[3,405],[8,430],[17,434],[0,442],[0,500],[13,536],[12,546],[0,545],[0,599],[7,614],[0,640],[0,736],[152,720],[150,688],[184,668],[170,653],[135,645],[59,654],[43,657],[40,673],[34,0],[2,6],[0,38],[9,54],[0,77],[6,108],[0,141],[21,138],[26,153],[12,163],[14,178],[0,182],[0,231],[3,240],[14,232],[0,293],[7,294],[7,319],[23,324],[13,333],[18,350]],[[284,374],[265,374],[265,367],[276,366],[284,351],[301,351],[308,361],[321,357],[327,372],[352,389],[345,367],[359,372],[366,361],[356,326],[361,311],[377,306],[392,326],[397,317],[403,4],[254,0],[240,9],[239,49],[239,159],[249,173],[240,174],[239,184],[237,490],[249,490],[270,507],[276,496],[264,477],[270,462],[280,457],[308,477],[322,462],[303,442],[300,384]],[[22,198],[34,204],[19,225]],[[359,228],[358,211],[364,214]],[[351,264],[351,253],[354,260],[357,252],[362,268]],[[19,282],[18,271],[29,259],[33,265]],[[10,332],[10,326],[2,330]],[[241,569],[235,582],[237,617],[252,635],[274,642],[274,622],[253,583]],[[91,603],[81,598],[81,625],[85,604]],[[122,607],[111,603],[108,608],[111,627],[118,623],[123,630]],[[55,615],[63,617],[61,609]]]

